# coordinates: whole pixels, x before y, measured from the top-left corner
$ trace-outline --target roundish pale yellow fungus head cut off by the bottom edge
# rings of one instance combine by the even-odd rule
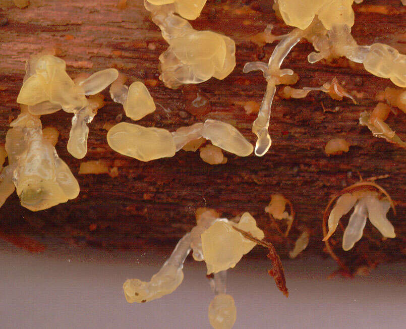
[[[231,329],[237,319],[237,308],[231,295],[216,295],[209,305],[209,321],[214,329]]]

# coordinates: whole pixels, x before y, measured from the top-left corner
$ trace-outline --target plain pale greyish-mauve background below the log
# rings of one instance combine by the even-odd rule
[[[149,280],[162,255],[52,247],[33,254],[0,241],[1,328],[210,328],[205,265],[189,257],[182,285],[145,304],[127,303],[128,278]],[[334,278],[331,260],[283,261],[289,297],[267,275],[270,262],[244,259],[228,271],[238,328],[400,328],[406,322],[404,264],[369,277]]]

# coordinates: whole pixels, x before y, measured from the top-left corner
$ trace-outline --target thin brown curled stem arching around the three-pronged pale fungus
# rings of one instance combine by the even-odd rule
[[[360,177],[361,177],[361,175],[360,175]],[[380,178],[380,177],[378,177],[378,178]],[[382,178],[386,178],[386,175],[383,175]],[[361,178],[361,180],[362,180],[362,178]],[[394,214],[396,214],[395,205],[393,203],[392,198],[388,194],[388,192],[386,192],[386,190],[383,187],[379,186],[378,184],[376,184],[374,182],[361,181],[361,182],[355,183],[349,187],[342,189],[337,195],[335,195],[331,198],[331,200],[328,202],[326,208],[324,209],[324,213],[323,213],[323,223],[322,223],[323,236],[324,236],[323,241],[326,245],[326,249],[327,249],[328,253],[337,262],[338,266],[340,266],[344,270],[348,270],[348,267],[345,266],[344,262],[334,253],[334,251],[332,250],[332,248],[330,246],[330,243],[328,242],[330,235],[327,235],[327,220],[328,220],[328,216],[331,211],[331,207],[334,204],[334,201],[337,200],[338,197],[340,197],[344,193],[352,193],[352,192],[355,192],[358,190],[363,190],[363,189],[364,190],[377,189],[379,192],[383,193],[388,198]],[[340,226],[342,228],[342,225],[340,225]]]

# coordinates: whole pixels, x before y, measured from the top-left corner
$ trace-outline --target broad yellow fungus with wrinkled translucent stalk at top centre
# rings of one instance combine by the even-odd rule
[[[177,3],[198,7],[186,0]],[[172,6],[155,6],[147,0],[144,6],[169,43],[168,49],[159,56],[162,71],[159,78],[165,86],[178,88],[181,84],[201,83],[211,77],[221,80],[234,70],[236,45],[233,40],[215,32],[194,30],[185,19],[173,15]]]

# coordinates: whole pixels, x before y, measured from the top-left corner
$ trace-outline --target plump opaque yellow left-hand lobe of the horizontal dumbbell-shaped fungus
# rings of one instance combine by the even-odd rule
[[[176,153],[172,135],[167,130],[145,128],[126,122],[121,122],[108,131],[107,143],[114,151],[141,161],[171,157]]]

